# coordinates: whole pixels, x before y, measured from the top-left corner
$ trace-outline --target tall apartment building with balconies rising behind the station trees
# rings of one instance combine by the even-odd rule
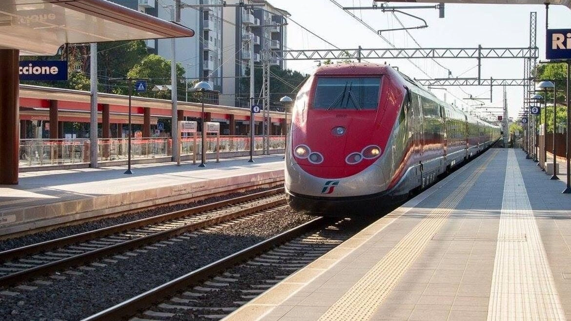
[[[161,19],[175,19],[174,0],[111,1]],[[223,7],[223,0],[182,1],[179,23],[193,29],[195,37],[175,39],[175,59],[186,70],[190,82],[208,81],[219,91],[220,105],[248,107],[250,91],[240,79],[250,77],[246,74],[250,55],[254,55],[258,68],[264,50],[286,48],[289,13],[264,0],[225,2],[238,6]],[[253,42],[250,33],[254,34]],[[151,39],[146,43],[150,52],[172,59],[171,39]],[[286,63],[278,59],[270,63],[286,68]]]

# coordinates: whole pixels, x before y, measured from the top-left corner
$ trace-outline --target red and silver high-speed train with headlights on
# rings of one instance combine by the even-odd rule
[[[286,197],[310,214],[363,214],[429,186],[499,138],[499,127],[391,66],[321,66],[295,99]]]

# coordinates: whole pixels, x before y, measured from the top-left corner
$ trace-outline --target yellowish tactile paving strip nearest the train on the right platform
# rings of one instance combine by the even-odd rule
[[[321,315],[319,320],[349,321],[371,318],[400,278],[423,252],[426,244],[447,220],[448,215],[475,184],[496,153],[498,152],[494,151],[492,157],[488,157],[486,162],[478,167],[460,187],[405,235],[363,278]]]

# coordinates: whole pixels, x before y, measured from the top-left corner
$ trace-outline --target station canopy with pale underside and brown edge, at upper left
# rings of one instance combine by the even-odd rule
[[[0,0],[0,49],[55,55],[65,43],[192,37],[194,31],[106,0]]]

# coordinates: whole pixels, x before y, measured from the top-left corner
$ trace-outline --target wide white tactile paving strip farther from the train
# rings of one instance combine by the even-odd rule
[[[520,167],[508,153],[488,320],[565,320]]]

